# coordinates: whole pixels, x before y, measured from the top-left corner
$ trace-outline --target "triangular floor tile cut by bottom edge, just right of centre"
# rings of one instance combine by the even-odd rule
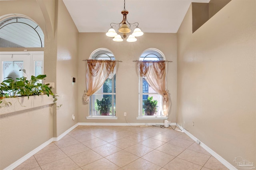
[[[161,169],[160,166],[155,165],[151,162],[148,162],[142,158],[139,158],[122,168],[124,170],[160,170]]]

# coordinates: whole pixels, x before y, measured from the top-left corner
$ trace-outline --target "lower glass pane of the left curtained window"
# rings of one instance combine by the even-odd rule
[[[90,96],[91,115],[116,115],[115,94],[94,94]]]

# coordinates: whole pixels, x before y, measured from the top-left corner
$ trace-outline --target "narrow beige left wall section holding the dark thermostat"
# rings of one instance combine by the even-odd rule
[[[62,0],[58,1],[57,15],[57,64],[56,92],[62,107],[56,113],[56,135],[58,137],[78,122],[78,30]],[[72,120],[74,114],[75,120]]]

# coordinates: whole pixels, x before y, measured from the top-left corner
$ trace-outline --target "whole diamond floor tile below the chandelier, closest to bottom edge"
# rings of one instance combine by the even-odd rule
[[[123,167],[138,158],[139,158],[138,156],[131,154],[129,152],[126,152],[124,150],[121,150],[119,152],[106,156],[106,159],[110,160],[111,162],[113,162],[114,164],[120,167]]]

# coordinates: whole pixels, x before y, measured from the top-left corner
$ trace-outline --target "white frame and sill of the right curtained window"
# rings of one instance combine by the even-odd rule
[[[145,53],[152,53],[154,52],[153,54],[155,55],[161,55],[160,58],[162,58],[162,60],[165,60],[165,56],[164,54],[158,50],[158,49],[155,49],[155,48],[150,48],[150,49],[146,49],[143,51],[142,55],[144,55]],[[140,56],[140,60],[141,60],[141,57],[142,55]],[[158,56],[159,57],[159,56]],[[157,61],[160,61],[160,59],[157,59]],[[139,76],[139,95],[138,95],[138,100],[139,100],[139,110],[138,110],[138,117],[136,117],[136,119],[168,119],[168,117],[164,117],[162,115],[162,108],[158,108],[158,111],[160,111],[160,115],[158,116],[151,116],[151,115],[142,115],[143,114],[143,95],[160,95],[158,93],[143,93],[143,87],[142,87],[142,84],[143,84],[143,77],[142,76]],[[162,96],[161,96],[161,101],[162,101]],[[161,106],[162,104],[160,104]]]

